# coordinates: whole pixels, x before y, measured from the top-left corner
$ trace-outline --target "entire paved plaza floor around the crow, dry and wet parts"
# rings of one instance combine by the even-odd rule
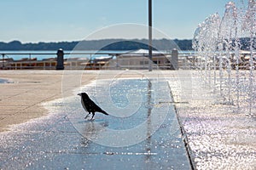
[[[2,75],[19,83],[1,84],[0,127],[44,116],[43,106],[49,115],[0,133],[0,169],[256,167],[255,105],[248,114],[248,100],[241,96],[237,111],[237,105],[228,105],[206,85],[201,72],[64,73],[64,80],[63,72],[55,71],[8,71]],[[102,81],[107,78],[111,81]],[[81,85],[91,79],[96,81]],[[63,87],[63,81],[72,83]],[[109,116],[96,113],[94,121],[85,120],[77,95],[82,91]],[[34,96],[38,98],[31,98]],[[230,96],[236,99],[236,93]]]

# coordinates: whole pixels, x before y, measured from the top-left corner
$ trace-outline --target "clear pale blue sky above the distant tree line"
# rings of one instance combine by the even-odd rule
[[[172,39],[191,39],[229,1],[152,0],[153,26]],[[77,41],[106,26],[148,25],[148,0],[0,0],[0,8],[0,42]]]

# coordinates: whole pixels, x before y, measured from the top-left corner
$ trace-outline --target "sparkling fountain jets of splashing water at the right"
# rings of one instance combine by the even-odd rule
[[[236,105],[237,113],[242,107],[253,116],[256,2],[249,0],[247,8],[241,4],[227,3],[222,18],[212,14],[202,22],[195,30],[193,48],[198,52],[197,69],[213,92],[223,98],[221,103],[230,108]]]

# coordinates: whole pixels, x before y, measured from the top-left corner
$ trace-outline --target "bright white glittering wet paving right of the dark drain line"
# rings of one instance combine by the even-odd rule
[[[208,86],[201,72],[190,73],[173,77],[169,84],[195,169],[256,169],[255,105],[251,115],[246,100],[237,111],[237,105],[224,102]],[[236,99],[236,89],[230,96]]]

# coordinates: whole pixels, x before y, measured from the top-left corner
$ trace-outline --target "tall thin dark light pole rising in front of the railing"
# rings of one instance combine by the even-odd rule
[[[152,71],[152,0],[148,0],[148,71]]]

